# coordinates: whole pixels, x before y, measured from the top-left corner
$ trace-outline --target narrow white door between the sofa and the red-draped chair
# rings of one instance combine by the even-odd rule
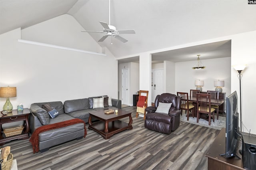
[[[122,104],[129,105],[129,69],[122,69]]]

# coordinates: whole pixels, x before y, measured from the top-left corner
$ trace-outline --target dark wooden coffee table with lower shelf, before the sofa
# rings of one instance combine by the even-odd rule
[[[117,108],[109,108],[116,110]],[[89,127],[88,129],[92,129],[99,134],[102,135],[104,139],[109,139],[111,136],[118,132],[122,132],[127,129],[132,129],[132,112],[128,112],[126,110],[118,109],[118,113],[105,114],[105,110],[98,110],[89,112]],[[129,123],[122,122],[121,118],[128,117],[130,118]],[[100,120],[99,122],[92,123],[92,117]]]

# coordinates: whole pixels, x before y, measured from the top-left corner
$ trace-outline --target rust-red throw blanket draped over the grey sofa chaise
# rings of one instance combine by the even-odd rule
[[[85,127],[85,122],[81,119],[75,118],[75,119],[71,119],[71,120],[66,120],[64,122],[58,122],[58,123],[54,123],[54,124],[48,124],[48,125],[44,125],[44,126],[40,126],[39,128],[37,128],[33,134],[31,135],[31,138],[29,140],[29,142],[31,142],[32,146],[33,146],[33,152],[36,153],[39,151],[39,134],[41,132],[45,132],[48,130],[52,130],[52,129],[57,129],[57,128],[62,128],[65,126],[70,126],[72,124],[77,124],[77,123],[83,123],[84,124],[84,138],[87,134],[86,132],[86,127]]]

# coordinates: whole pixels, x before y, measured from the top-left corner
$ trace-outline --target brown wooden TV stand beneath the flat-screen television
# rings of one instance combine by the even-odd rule
[[[225,152],[225,133],[226,129],[222,128],[206,153],[206,157],[208,158],[208,170],[244,170],[242,159],[220,156],[220,154]],[[238,140],[238,146],[241,144],[242,141]],[[238,150],[236,156],[242,157]]]

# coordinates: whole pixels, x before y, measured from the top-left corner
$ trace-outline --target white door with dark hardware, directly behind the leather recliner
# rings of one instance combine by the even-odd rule
[[[156,96],[162,93],[164,93],[164,70],[154,70],[152,102],[155,102]]]

